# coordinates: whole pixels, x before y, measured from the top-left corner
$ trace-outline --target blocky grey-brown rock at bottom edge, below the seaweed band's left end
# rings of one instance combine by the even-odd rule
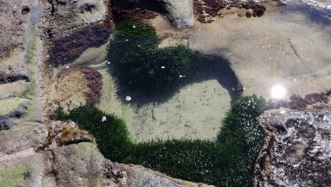
[[[82,142],[53,150],[57,186],[100,186],[104,157],[96,145]]]

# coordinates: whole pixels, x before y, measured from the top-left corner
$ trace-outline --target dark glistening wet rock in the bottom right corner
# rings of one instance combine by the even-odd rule
[[[255,186],[330,185],[330,112],[264,115],[260,121],[267,137],[255,168]]]

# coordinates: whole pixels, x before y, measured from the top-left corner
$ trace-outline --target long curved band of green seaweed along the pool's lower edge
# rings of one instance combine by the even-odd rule
[[[252,186],[255,160],[264,132],[256,117],[265,99],[240,96],[223,120],[216,141],[150,140],[134,142],[124,120],[97,108],[81,106],[57,120],[73,120],[94,137],[103,155],[114,162],[141,164],[169,176],[215,186]],[[102,122],[105,116],[107,120]]]

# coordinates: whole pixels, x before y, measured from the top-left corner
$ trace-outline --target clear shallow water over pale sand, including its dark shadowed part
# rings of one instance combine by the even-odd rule
[[[156,23],[159,35],[170,35],[169,40],[174,43],[183,42],[176,37],[188,37],[187,43],[192,50],[213,54],[213,60],[211,63],[210,60],[202,60],[199,65],[193,66],[192,71],[185,74],[186,77],[182,77],[170,91],[132,91],[115,83],[115,98],[123,103],[123,109],[117,113],[125,116],[133,136],[139,140],[162,139],[175,134],[175,137],[185,137],[187,133],[190,137],[215,137],[231,101],[235,101],[239,94],[238,84],[241,84],[244,95],[257,94],[267,99],[272,98],[272,87],[277,85],[284,86],[284,99],[289,99],[292,94],[304,96],[310,92],[327,90],[329,78],[324,75],[329,73],[327,63],[330,61],[327,55],[327,47],[330,47],[328,13],[325,8],[316,9],[302,1],[288,1],[286,6],[249,21],[234,16],[216,18],[214,23],[205,25],[196,21],[196,25],[188,30],[189,36],[180,30],[169,31],[166,26],[166,29],[162,28],[163,23]],[[216,27],[220,27],[220,30]],[[218,45],[215,44],[216,40],[219,41]],[[116,74],[116,67],[111,67],[111,70]],[[204,93],[213,93],[208,88],[218,90],[208,80],[216,80],[225,92],[221,91],[219,95],[216,91],[205,96]],[[200,86],[194,87],[197,83]],[[196,89],[192,89],[192,86]],[[127,96],[132,100],[125,101]],[[196,100],[202,101],[204,96],[209,101],[220,98],[219,108],[208,107],[210,103],[207,106],[197,104]],[[182,101],[192,104],[185,107]],[[205,119],[191,129],[186,128],[192,126],[190,121],[194,119],[194,111],[190,110],[213,112],[202,116]],[[154,119],[155,115],[162,116],[159,117],[161,122]],[[213,115],[222,117],[212,122],[214,128],[204,129],[205,125],[211,123],[209,118],[213,118]],[[186,117],[182,119],[182,116]],[[171,121],[171,125],[165,124],[166,119]],[[139,124],[144,125],[141,128]]]

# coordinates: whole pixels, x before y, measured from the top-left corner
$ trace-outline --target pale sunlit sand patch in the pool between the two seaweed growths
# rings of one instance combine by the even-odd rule
[[[164,102],[158,95],[117,91],[102,70],[103,95],[98,108],[124,118],[134,140],[216,137],[231,97],[217,79],[187,84]],[[124,101],[131,96],[132,101]]]

